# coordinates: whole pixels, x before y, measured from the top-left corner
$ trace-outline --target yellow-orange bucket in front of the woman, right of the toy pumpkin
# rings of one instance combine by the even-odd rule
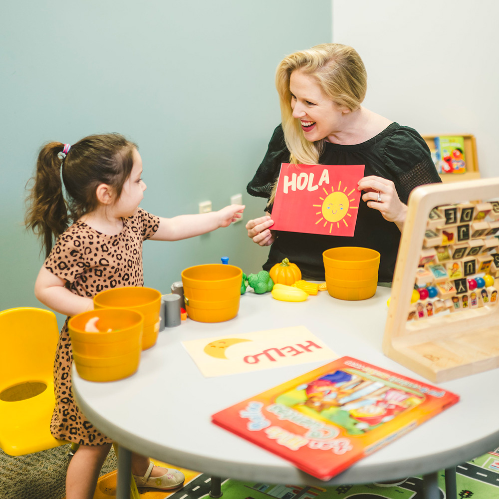
[[[340,300],[365,300],[376,293],[380,253],[369,248],[340,247],[325,250],[327,292]]]

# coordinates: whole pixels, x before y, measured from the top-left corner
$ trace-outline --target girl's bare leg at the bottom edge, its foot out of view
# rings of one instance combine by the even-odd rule
[[[92,499],[111,444],[80,445],[66,473],[66,499]]]

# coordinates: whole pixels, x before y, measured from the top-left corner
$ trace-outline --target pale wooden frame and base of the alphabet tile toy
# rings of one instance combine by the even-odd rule
[[[433,382],[499,367],[499,306],[407,320],[430,211],[436,206],[498,197],[499,177],[420,186],[409,197],[383,352]],[[496,278],[495,287],[498,283]]]

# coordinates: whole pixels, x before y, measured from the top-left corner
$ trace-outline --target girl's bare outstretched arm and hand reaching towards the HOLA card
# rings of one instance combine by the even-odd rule
[[[192,238],[220,227],[228,227],[241,218],[244,205],[230,205],[218,212],[199,215],[179,215],[171,219],[160,218],[159,229],[151,239],[156,241],[179,241]]]

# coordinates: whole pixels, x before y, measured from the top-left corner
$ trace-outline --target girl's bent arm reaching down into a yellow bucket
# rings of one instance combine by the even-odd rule
[[[64,279],[41,267],[34,284],[34,294],[44,305],[63,315],[76,315],[93,310],[92,298],[72,293],[65,284]]]

